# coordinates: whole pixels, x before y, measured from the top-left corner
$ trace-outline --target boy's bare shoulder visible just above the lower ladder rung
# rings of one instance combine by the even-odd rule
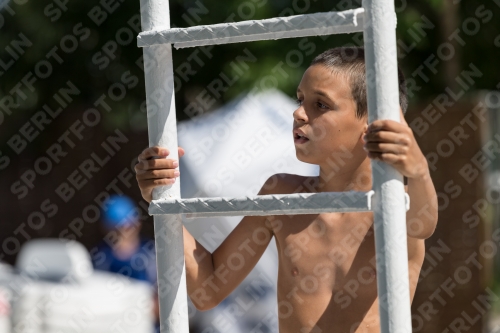
[[[317,176],[300,176],[290,173],[277,173],[269,177],[259,192],[259,195],[266,194],[292,194],[311,192]]]

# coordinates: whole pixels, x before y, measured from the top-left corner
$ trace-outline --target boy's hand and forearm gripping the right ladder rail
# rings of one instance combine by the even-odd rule
[[[427,160],[420,150],[411,128],[401,113],[401,122],[376,120],[363,137],[368,157],[384,161],[405,177],[410,196],[410,209],[406,212],[409,237],[429,238],[436,228],[438,203],[436,190],[430,177]]]

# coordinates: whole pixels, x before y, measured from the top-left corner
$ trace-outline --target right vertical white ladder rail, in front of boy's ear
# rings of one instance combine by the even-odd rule
[[[363,7],[368,121],[400,121],[394,0],[363,0]],[[371,166],[381,332],[411,333],[403,176],[380,161]]]

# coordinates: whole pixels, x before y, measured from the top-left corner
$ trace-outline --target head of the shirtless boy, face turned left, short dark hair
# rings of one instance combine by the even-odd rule
[[[330,49],[313,60],[297,87],[293,114],[299,160],[321,165],[352,154],[342,162],[352,169],[367,159],[362,139],[368,127],[365,77],[363,48]],[[401,71],[399,80],[404,113],[408,103]]]

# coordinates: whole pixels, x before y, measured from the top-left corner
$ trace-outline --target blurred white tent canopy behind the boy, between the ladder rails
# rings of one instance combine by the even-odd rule
[[[182,197],[256,195],[276,173],[318,175],[317,165],[300,162],[295,156],[295,108],[284,93],[268,90],[179,123],[179,146],[186,151],[180,162]],[[191,231],[189,225],[193,225],[193,236],[201,243],[203,231],[212,229],[207,220],[238,222],[241,218],[188,220],[188,228]],[[229,225],[228,231],[234,224]]]

